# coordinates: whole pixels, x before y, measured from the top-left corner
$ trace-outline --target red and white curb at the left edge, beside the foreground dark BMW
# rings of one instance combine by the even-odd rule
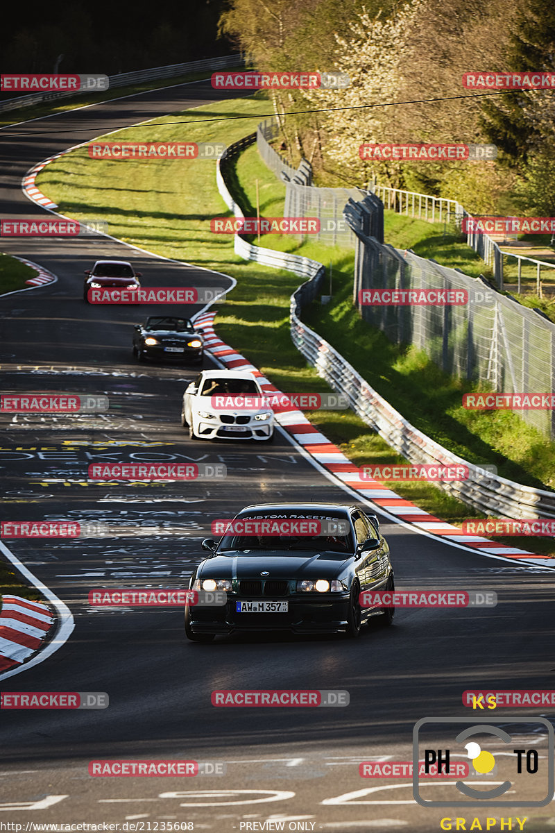
[[[0,610],[0,672],[21,666],[42,646],[54,625],[52,611],[38,601],[3,596]]]

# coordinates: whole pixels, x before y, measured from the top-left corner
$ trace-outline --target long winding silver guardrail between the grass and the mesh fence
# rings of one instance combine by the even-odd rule
[[[225,205],[235,217],[244,217],[240,207],[225,185],[226,163],[256,140],[256,134],[234,142],[225,149],[216,165],[218,191]],[[223,170],[222,170],[223,167]],[[459,500],[498,517],[553,518],[555,517],[555,492],[523,486],[498,475],[490,475],[480,466],[463,460],[452,451],[440,446],[431,437],[419,431],[404,419],[384,397],[366,382],[354,367],[331,347],[329,342],[300,320],[300,312],[306,303],[320,293],[325,277],[325,267],[308,257],[275,252],[272,249],[252,246],[235,235],[235,253],[245,260],[253,260],[265,266],[288,269],[307,277],[290,298],[290,332],[295,347],[320,377],[334,391],[345,394],[353,411],[374,431],[379,433],[394,451],[411,463],[439,463],[468,466],[469,478],[465,481],[440,481],[438,486]]]

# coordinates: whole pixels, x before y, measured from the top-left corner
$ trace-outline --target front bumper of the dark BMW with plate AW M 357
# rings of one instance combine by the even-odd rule
[[[236,601],[268,601],[267,596],[239,596],[229,593],[225,606],[187,607],[191,629],[195,633],[229,635],[259,631],[292,633],[342,633],[347,629],[349,593],[334,593],[324,598],[279,596],[287,601],[286,613],[237,613]],[[278,597],[275,597],[278,601]]]

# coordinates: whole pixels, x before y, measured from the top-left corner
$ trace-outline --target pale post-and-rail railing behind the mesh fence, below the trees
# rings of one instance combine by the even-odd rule
[[[456,200],[446,197],[432,197],[431,194],[419,194],[415,191],[403,191],[389,185],[370,185],[370,190],[380,197],[384,207],[392,209],[398,214],[417,217],[427,222],[453,222],[458,228],[462,226],[464,217],[472,217]],[[409,197],[411,199],[409,200]],[[418,197],[418,207],[416,199]],[[424,204],[423,204],[424,201]],[[503,252],[498,244],[488,234],[469,232],[466,235],[468,246],[472,247],[488,266],[493,267],[493,276],[500,292],[503,292]]]

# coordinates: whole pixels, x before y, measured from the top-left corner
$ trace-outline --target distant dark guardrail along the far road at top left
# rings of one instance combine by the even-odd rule
[[[153,67],[151,69],[139,69],[136,72],[120,72],[118,75],[108,77],[108,89],[112,87],[126,87],[131,84],[139,84],[143,81],[156,81],[156,78],[175,78],[184,75],[186,72],[195,72],[203,69],[226,69],[242,64],[243,57],[240,54],[224,55],[222,57],[207,57],[201,61],[189,61],[187,63],[172,63],[167,67]],[[17,110],[18,107],[30,107],[32,104],[53,101],[56,98],[82,95],[89,90],[65,90],[59,92],[32,92],[28,96],[7,98],[0,101],[0,112]]]

